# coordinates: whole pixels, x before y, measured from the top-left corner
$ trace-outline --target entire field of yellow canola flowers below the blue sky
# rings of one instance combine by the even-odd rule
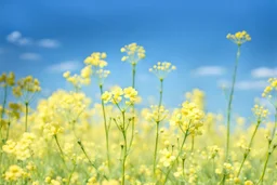
[[[250,36],[241,31],[228,39],[240,47]],[[121,50],[133,67],[145,57],[137,44]],[[163,91],[169,90],[162,82],[175,69],[172,64],[151,67],[160,81],[159,102],[141,109],[134,82],[104,91],[106,58],[106,53],[91,54],[79,75],[64,74],[74,91],[57,90],[27,113],[24,103],[40,91],[38,80],[16,82],[13,72],[0,76],[0,184],[277,184],[276,78],[262,93],[274,107],[271,113],[255,104],[251,119],[234,119],[226,160],[223,138],[228,127],[223,115],[207,110],[203,91],[186,92],[176,108],[163,104]],[[91,82],[102,87],[102,103],[82,92]]]

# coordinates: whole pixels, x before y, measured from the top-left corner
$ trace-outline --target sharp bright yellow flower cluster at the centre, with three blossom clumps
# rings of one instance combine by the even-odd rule
[[[105,91],[102,95],[104,103],[111,102],[120,107],[120,109],[129,107],[140,101],[137,91],[132,87],[121,89],[120,87],[115,87],[110,92]],[[122,107],[120,106],[122,105]]]

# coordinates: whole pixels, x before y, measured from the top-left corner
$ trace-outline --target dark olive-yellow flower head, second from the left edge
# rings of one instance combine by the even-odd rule
[[[32,100],[35,93],[40,92],[40,83],[39,80],[27,76],[17,81],[17,85],[13,88],[13,94],[16,97],[24,97],[24,101],[29,102]]]

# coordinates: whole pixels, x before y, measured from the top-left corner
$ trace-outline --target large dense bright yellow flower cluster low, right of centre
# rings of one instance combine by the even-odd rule
[[[203,125],[205,114],[196,104],[184,102],[182,108],[173,113],[171,124],[179,125],[185,133],[200,135],[200,128]]]

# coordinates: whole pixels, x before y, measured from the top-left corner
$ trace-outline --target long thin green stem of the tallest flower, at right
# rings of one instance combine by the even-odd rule
[[[228,101],[228,108],[227,108],[227,141],[226,141],[226,161],[228,160],[228,153],[229,153],[229,131],[230,131],[230,111],[232,111],[232,103],[234,97],[234,90],[236,84],[236,78],[237,78],[237,69],[238,69],[238,61],[240,56],[240,44],[238,45],[237,51],[237,58],[235,64],[235,69],[233,74],[233,81],[232,81],[232,88],[230,88],[230,94],[229,94],[229,101]]]

